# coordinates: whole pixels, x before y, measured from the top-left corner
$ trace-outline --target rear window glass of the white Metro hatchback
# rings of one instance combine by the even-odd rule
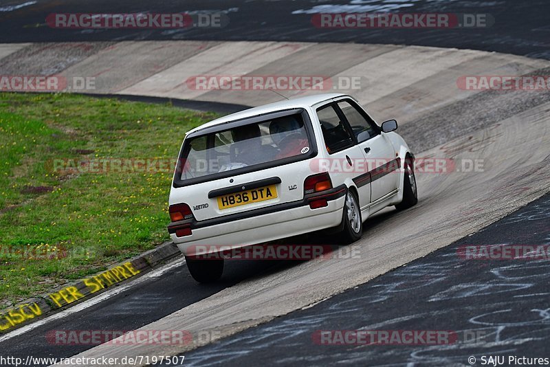
[[[305,113],[241,123],[231,129],[186,138],[177,181],[206,181],[305,159],[313,150]],[[239,171],[237,171],[239,170]],[[223,173],[226,173],[223,175]],[[212,175],[212,177],[210,177]]]

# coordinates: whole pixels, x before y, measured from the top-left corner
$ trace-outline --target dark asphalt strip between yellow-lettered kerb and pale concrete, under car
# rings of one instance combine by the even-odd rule
[[[208,298],[222,289],[238,282],[263,274],[285,271],[295,262],[243,261],[225,266],[223,280],[215,285],[197,285],[181,259],[163,272],[153,274],[139,285],[109,297],[105,302],[94,304],[83,312],[47,322],[28,333],[1,342],[3,353],[23,359],[32,353],[35,356],[71,357],[94,346],[55,345],[47,339],[48,333],[56,330],[105,330],[130,331]],[[115,289],[116,291],[116,289]],[[44,365],[45,366],[45,365]]]

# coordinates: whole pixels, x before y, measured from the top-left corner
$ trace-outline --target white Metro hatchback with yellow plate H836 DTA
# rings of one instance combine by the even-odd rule
[[[199,282],[223,258],[197,245],[244,247],[330,229],[345,242],[371,214],[417,203],[414,155],[395,120],[377,125],[340,93],[247,109],[186,134],[170,190],[168,232]],[[210,250],[215,251],[215,250]]]

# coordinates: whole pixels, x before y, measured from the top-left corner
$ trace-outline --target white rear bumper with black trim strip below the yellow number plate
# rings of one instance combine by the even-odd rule
[[[195,245],[243,247],[335,227],[342,221],[347,187],[338,186],[306,195],[302,201],[222,216],[206,221],[175,222],[168,225],[172,241],[182,253],[188,254]],[[309,202],[327,199],[327,206],[311,209]],[[178,237],[182,226],[190,226],[192,234]],[[212,247],[215,249],[215,247]]]

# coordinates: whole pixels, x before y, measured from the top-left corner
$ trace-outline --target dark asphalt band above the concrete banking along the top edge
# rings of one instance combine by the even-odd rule
[[[384,43],[458,47],[550,59],[545,0],[186,0],[186,1],[71,1],[36,0],[17,12],[0,12],[0,43],[50,41],[217,40]],[[4,1],[6,5],[29,1]],[[16,5],[17,4],[17,5]],[[331,5],[333,4],[333,5]],[[5,8],[8,8],[7,6]],[[45,18],[63,13],[212,12],[225,14],[228,25],[184,30],[56,30]],[[490,14],[489,28],[468,30],[320,30],[311,16],[320,12],[406,12]]]

